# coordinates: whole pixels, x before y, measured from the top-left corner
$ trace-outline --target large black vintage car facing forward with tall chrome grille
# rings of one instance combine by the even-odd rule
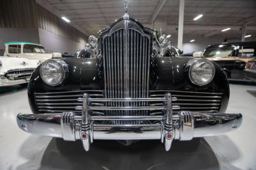
[[[242,115],[225,113],[229,86],[221,67],[193,57],[160,57],[156,31],[124,17],[90,36],[90,58],[51,59],[32,74],[34,114],[17,115],[20,129],[84,149],[97,139],[191,140],[233,131]]]

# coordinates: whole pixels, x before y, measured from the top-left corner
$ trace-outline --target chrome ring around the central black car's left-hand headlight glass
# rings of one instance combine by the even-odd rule
[[[49,83],[49,81],[45,80],[44,75],[42,75],[43,74],[42,69],[44,69],[45,64],[48,64],[49,62],[52,62],[54,64],[58,64],[58,66],[60,66],[62,75],[61,75],[60,81],[58,81],[56,83]],[[54,86],[57,86],[57,85],[61,85],[63,83],[63,81],[66,80],[66,78],[68,76],[68,65],[64,60],[61,60],[61,59],[49,59],[49,60],[46,60],[45,62],[43,62],[40,65],[39,71],[40,71],[40,77],[44,81],[44,83],[54,87]]]

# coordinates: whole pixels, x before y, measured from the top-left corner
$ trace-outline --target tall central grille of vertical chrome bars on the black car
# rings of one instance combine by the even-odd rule
[[[124,27],[102,39],[105,92],[107,98],[148,97],[150,37],[140,30]],[[131,23],[131,22],[129,22]],[[125,26],[126,25],[126,26]],[[107,106],[116,103],[108,102]],[[146,102],[118,102],[118,106],[147,106]],[[143,111],[106,111],[106,115],[148,115]],[[115,121],[115,124],[134,122]],[[137,124],[140,122],[136,122]]]

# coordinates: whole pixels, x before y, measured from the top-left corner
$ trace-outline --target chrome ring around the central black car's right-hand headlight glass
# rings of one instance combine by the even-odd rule
[[[194,69],[194,67],[196,66],[196,64],[199,64],[199,63],[201,63],[201,62],[204,62],[204,63],[209,64],[209,66],[211,66],[211,69],[212,69],[212,76],[211,76],[211,78],[210,78],[208,81],[204,82],[204,83],[199,83],[199,82],[196,81],[195,78],[193,78],[193,76],[191,75],[191,71],[193,71],[193,69]],[[191,66],[189,67],[189,80],[190,80],[193,84],[195,84],[195,85],[204,86],[204,85],[207,85],[207,84],[211,83],[211,81],[213,80],[213,78],[214,78],[214,76],[215,76],[215,72],[216,72],[215,66],[214,66],[214,64],[213,64],[211,61],[209,61],[209,60],[195,60],[195,62],[193,62],[193,63],[191,64]]]

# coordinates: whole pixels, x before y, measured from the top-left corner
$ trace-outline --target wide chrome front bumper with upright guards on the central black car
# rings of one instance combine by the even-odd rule
[[[109,107],[90,106],[90,101],[103,102],[134,102],[134,101],[163,101],[163,106],[145,107]],[[83,97],[82,115],[72,112],[45,113],[36,115],[17,115],[17,123],[23,131],[63,138],[66,141],[81,139],[84,149],[89,150],[93,139],[138,140],[160,139],[166,151],[170,150],[173,139],[180,141],[192,138],[214,136],[234,131],[242,122],[242,115],[225,113],[193,113],[180,111],[172,114],[172,101],[168,93],[164,98],[140,99],[95,99],[87,94]],[[163,110],[162,116],[90,116],[92,110]],[[157,124],[95,124],[102,120],[156,120]]]

